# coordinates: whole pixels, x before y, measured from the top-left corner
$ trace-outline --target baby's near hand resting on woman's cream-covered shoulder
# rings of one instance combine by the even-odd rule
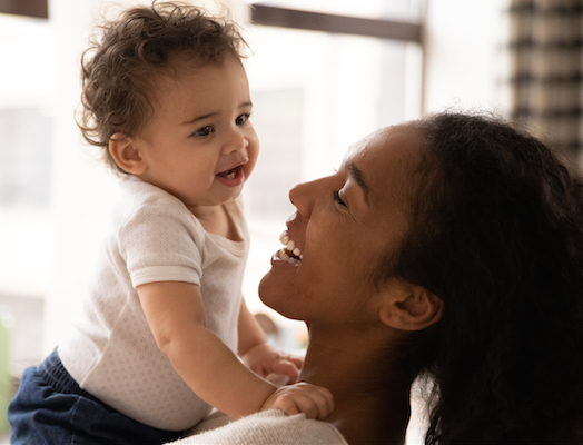
[[[308,418],[324,421],[334,411],[334,397],[322,386],[298,383],[277,389],[265,400],[265,409],[281,409],[289,416],[304,413]]]

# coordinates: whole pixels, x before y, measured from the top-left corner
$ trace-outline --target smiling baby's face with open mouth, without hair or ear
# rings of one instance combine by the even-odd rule
[[[238,58],[179,66],[171,77],[155,82],[154,116],[135,141],[148,166],[140,178],[197,215],[239,196],[255,167],[259,141]]]

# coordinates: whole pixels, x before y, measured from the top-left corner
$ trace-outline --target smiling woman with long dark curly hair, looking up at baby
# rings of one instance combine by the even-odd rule
[[[290,200],[283,239],[300,253],[277,253],[259,293],[306,320],[300,380],[335,411],[182,444],[402,444],[419,376],[427,444],[583,442],[583,198],[543,144],[436,115],[363,139]]]

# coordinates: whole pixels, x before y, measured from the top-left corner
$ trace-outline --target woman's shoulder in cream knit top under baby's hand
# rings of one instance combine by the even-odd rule
[[[280,411],[265,411],[231,422],[220,428],[196,434],[172,445],[348,445],[327,422],[288,416]]]

